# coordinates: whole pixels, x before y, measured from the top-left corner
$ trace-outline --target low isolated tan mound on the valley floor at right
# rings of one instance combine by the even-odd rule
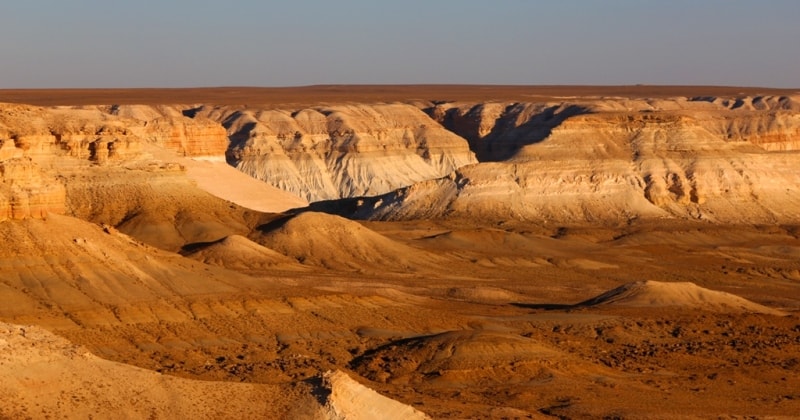
[[[633,307],[676,306],[713,312],[753,312],[786,315],[784,312],[759,305],[739,296],[709,290],[690,282],[664,283],[647,280],[628,283],[581,302],[577,306],[601,305]]]

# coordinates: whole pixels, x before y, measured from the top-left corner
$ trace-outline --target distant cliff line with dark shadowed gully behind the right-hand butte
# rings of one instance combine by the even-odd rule
[[[645,113],[682,115],[725,141],[748,141],[768,151],[800,149],[800,100],[789,96],[440,103],[425,111],[466,138],[482,162],[511,159],[521,148],[543,141],[563,123],[586,114],[629,114],[631,118]],[[594,134],[608,128],[598,127],[600,131]]]

